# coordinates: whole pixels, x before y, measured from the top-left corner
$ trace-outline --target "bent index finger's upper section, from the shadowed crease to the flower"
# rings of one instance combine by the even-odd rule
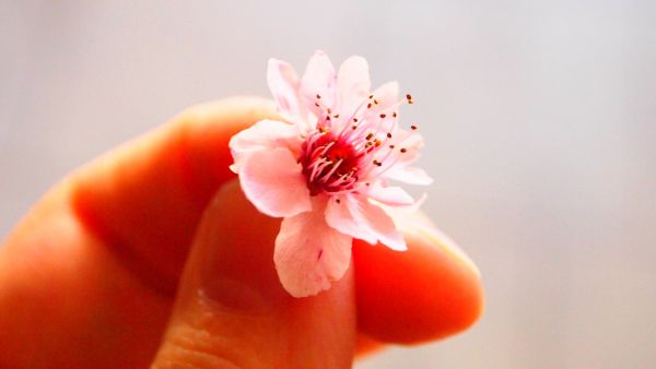
[[[80,170],[73,207],[134,274],[173,296],[203,209],[234,177],[230,138],[271,116],[260,98],[187,109]]]

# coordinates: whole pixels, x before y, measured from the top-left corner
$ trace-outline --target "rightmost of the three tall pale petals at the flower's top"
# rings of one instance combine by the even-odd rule
[[[370,94],[372,81],[370,80],[368,64],[362,57],[350,57],[344,60],[337,74],[341,115],[350,117],[353,110]]]

